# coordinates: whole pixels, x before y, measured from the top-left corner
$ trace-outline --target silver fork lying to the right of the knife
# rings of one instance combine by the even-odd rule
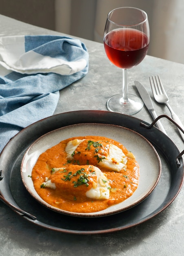
[[[175,114],[175,112],[172,110],[171,106],[168,103],[169,98],[164,90],[164,87],[162,85],[160,77],[155,76],[155,78],[154,78],[153,76],[152,77],[149,76],[149,81],[151,84],[151,90],[153,92],[153,96],[154,96],[155,100],[158,103],[165,104],[169,108],[169,110],[171,112],[172,119],[184,130],[184,126],[183,126],[182,122],[180,121],[179,117]],[[178,129],[178,130],[180,132],[182,139],[184,140],[183,132],[180,129]]]

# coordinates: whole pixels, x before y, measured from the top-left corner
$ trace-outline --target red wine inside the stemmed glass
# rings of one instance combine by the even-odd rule
[[[137,29],[114,29],[105,36],[104,47],[114,65],[127,69],[138,65],[145,58],[149,39]]]

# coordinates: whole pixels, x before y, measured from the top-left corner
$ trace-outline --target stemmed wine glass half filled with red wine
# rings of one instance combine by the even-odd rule
[[[107,57],[123,70],[123,94],[107,101],[107,109],[134,115],[143,106],[142,100],[128,94],[127,69],[138,65],[149,47],[149,22],[147,13],[134,7],[120,7],[110,11],[104,31],[104,48]]]

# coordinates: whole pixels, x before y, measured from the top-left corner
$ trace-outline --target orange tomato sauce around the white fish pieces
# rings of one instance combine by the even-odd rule
[[[87,144],[81,143],[75,150],[76,158],[72,161],[68,161],[67,154],[65,152],[66,144],[68,141],[76,138],[87,139],[86,141],[100,141],[101,144],[104,143],[105,145],[111,143],[118,146],[118,148],[120,148],[125,155],[129,153],[129,151],[122,144],[106,137],[73,137],[61,141],[59,144],[49,148],[44,153],[42,153],[37,159],[35,166],[33,167],[32,180],[35,190],[39,196],[53,207],[76,213],[92,213],[101,211],[129,198],[136,191],[139,182],[139,165],[136,160],[127,157],[126,168],[123,168],[120,172],[111,171],[107,168],[98,166],[97,158],[94,157],[94,155],[92,156],[92,150],[86,150]],[[85,154],[77,154],[79,149],[81,152],[85,152]],[[104,155],[106,154],[105,151],[103,152],[103,149],[99,151],[99,154],[102,153],[104,153]],[[85,184],[74,187],[74,184],[70,179],[65,180],[65,173],[55,175],[54,182],[56,184],[56,189],[42,187],[42,183],[45,182],[46,177],[51,179],[52,168],[69,168],[70,171],[72,170],[73,174],[79,170],[79,165],[81,168],[84,167],[87,170],[92,164],[101,169],[101,171],[107,177],[108,183],[110,185],[109,199],[96,200],[87,198],[85,192],[92,186],[90,181],[88,187],[85,186]],[[61,186],[58,184],[61,184]]]

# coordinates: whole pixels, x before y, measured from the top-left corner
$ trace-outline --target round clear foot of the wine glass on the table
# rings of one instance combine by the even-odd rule
[[[128,102],[122,103],[122,94],[116,94],[107,101],[107,109],[125,115],[134,115],[143,107],[142,99],[133,94],[128,94]]]

